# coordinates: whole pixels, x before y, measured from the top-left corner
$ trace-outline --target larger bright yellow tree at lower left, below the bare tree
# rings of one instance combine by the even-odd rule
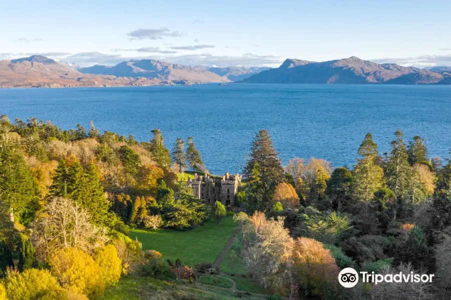
[[[50,265],[63,287],[90,298],[103,294],[105,283],[101,268],[87,252],[77,248],[60,249],[52,256]]]

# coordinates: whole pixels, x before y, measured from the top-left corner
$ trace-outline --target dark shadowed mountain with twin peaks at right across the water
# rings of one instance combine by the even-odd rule
[[[243,83],[449,84],[447,74],[352,56],[330,61],[286,59],[278,68],[255,74]]]

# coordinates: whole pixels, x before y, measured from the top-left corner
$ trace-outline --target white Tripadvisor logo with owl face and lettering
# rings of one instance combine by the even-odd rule
[[[360,272],[362,282],[378,284],[381,282],[432,282],[434,274],[414,274],[399,272],[396,274],[375,274],[374,272]],[[359,282],[359,274],[352,267],[346,267],[338,274],[338,282],[344,287],[353,287]]]

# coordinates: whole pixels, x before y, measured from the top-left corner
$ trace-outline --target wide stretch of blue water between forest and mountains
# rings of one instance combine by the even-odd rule
[[[397,128],[426,139],[430,156],[451,148],[451,86],[215,84],[0,89],[0,114],[63,128],[89,121],[138,140],[160,128],[165,144],[194,137],[210,172],[240,172],[256,131],[266,128],[286,164],[311,156],[352,165],[370,131],[380,153]]]

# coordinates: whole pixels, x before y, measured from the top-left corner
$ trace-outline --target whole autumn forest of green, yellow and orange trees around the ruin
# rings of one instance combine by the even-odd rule
[[[368,132],[353,166],[315,157],[282,165],[260,130],[237,207],[225,207],[186,183],[187,169],[206,172],[193,137],[168,149],[159,129],[150,133],[139,142],[92,122],[63,130],[1,116],[0,300],[101,299],[132,274],[191,284],[209,266],[142,250],[130,231],[189,231],[228,213],[240,228],[234,253],[273,299],[451,297],[451,160],[429,157],[422,137],[405,141],[397,130],[381,154]],[[435,277],[344,288],[345,267]]]

